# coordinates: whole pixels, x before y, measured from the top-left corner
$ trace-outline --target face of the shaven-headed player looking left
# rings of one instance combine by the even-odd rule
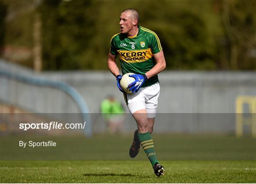
[[[128,34],[133,28],[133,21],[131,12],[127,11],[121,13],[119,22],[121,33]]]

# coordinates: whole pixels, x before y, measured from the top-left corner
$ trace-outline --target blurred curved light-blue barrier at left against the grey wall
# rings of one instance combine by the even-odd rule
[[[32,85],[57,88],[57,89],[64,91],[68,95],[70,95],[74,99],[74,101],[77,103],[77,105],[79,106],[79,109],[82,113],[82,120],[84,122],[86,122],[86,126],[85,126],[86,128],[84,129],[84,134],[87,137],[91,137],[92,127],[91,127],[90,111],[89,111],[89,108],[88,108],[85,100],[83,99],[83,97],[80,95],[80,93],[78,93],[78,91],[75,88],[66,84],[65,82],[52,81],[49,79],[39,79],[36,77],[20,75],[17,73],[12,73],[9,71],[4,71],[4,70],[0,70],[0,76],[4,76],[9,79],[18,80],[18,81],[25,82],[25,83],[32,84]]]

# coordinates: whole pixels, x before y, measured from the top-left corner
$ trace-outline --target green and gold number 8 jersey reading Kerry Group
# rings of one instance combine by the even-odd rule
[[[110,41],[110,53],[119,55],[122,74],[145,74],[155,66],[153,54],[162,51],[158,36],[149,29],[138,26],[138,34],[132,37],[118,33]],[[158,77],[148,79],[142,87],[158,82]]]

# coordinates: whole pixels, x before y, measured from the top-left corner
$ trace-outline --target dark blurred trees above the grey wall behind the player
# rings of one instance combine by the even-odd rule
[[[0,2],[2,57],[35,70],[107,70],[110,38],[128,7],[159,36],[167,70],[256,70],[255,0]]]

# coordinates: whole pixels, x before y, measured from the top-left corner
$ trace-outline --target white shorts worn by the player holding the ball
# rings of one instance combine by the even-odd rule
[[[147,117],[154,118],[158,105],[158,96],[160,93],[159,82],[140,88],[137,93],[124,94],[125,101],[131,114],[138,110],[146,109]]]

